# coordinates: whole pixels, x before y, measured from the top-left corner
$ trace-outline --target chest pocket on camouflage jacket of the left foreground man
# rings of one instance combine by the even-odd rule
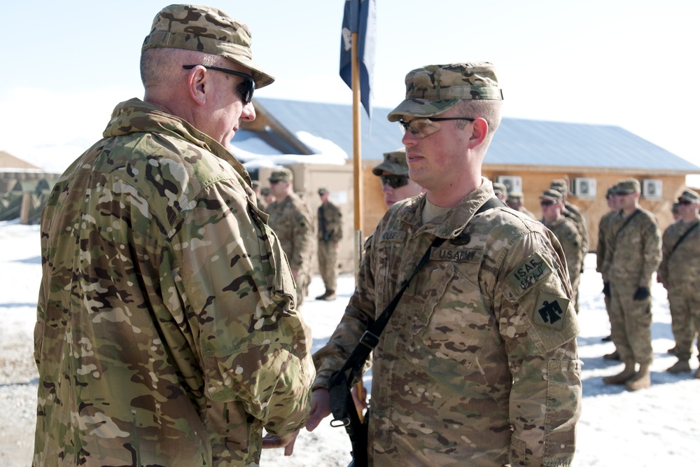
[[[260,244],[260,263],[262,264],[265,289],[271,295],[272,300],[279,298],[293,300],[296,289],[294,278],[279,239],[269,228],[269,225],[263,221],[263,216],[267,216],[267,214],[260,211],[250,200],[248,200],[248,211],[253,219]]]

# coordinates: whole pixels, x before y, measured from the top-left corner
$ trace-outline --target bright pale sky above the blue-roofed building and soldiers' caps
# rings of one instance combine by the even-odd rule
[[[253,58],[277,78],[256,95],[351,102],[343,0],[208,4],[251,28]],[[143,97],[141,42],[166,5],[5,2],[0,150],[62,170],[99,139],[118,102]],[[377,0],[372,99],[398,104],[416,67],[485,60],[505,116],[623,127],[700,166],[699,23],[697,0]]]

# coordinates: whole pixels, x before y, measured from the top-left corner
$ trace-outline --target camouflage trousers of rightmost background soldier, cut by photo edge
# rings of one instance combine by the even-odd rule
[[[675,354],[678,360],[689,360],[700,326],[700,292],[684,293],[681,288],[671,288],[668,291],[668,305],[671,308]],[[700,351],[700,342],[698,349]]]

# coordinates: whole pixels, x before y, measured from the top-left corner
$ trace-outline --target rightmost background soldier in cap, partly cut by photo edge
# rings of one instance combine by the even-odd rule
[[[700,330],[699,203],[698,193],[683,191],[678,197],[681,218],[666,228],[661,246],[663,256],[657,277],[668,291],[671,330],[675,339],[675,356],[678,357],[678,361],[666,370],[671,373],[690,371],[693,340]],[[700,378],[700,368],[694,376]]]

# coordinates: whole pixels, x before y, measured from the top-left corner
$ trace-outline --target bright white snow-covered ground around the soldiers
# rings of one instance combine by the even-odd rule
[[[0,223],[0,467],[29,466],[34,442],[36,368],[32,334],[36,296],[41,279],[39,235],[36,225]],[[602,377],[622,370],[619,362],[603,360],[613,347],[601,342],[610,333],[603,283],[595,271],[595,256],[586,258],[580,286],[583,366],[583,414],[578,424],[575,467],[696,466],[700,453],[700,380],[692,373],[671,375],[664,370],[675,362],[666,351],[673,347],[666,291],[654,285],[652,387],[636,393],[624,386],[606,386]],[[696,260],[696,258],[693,258]],[[309,286],[303,314],[311,327],[314,349],[328,339],[353,290],[353,279],[339,279],[334,302],[317,302],[323,293],[320,277]],[[692,368],[697,367],[697,354]],[[367,377],[368,379],[369,377]],[[328,420],[328,419],[327,419]],[[295,454],[265,451],[262,466],[346,466],[350,443],[342,428],[323,422],[313,433],[302,431]]]

